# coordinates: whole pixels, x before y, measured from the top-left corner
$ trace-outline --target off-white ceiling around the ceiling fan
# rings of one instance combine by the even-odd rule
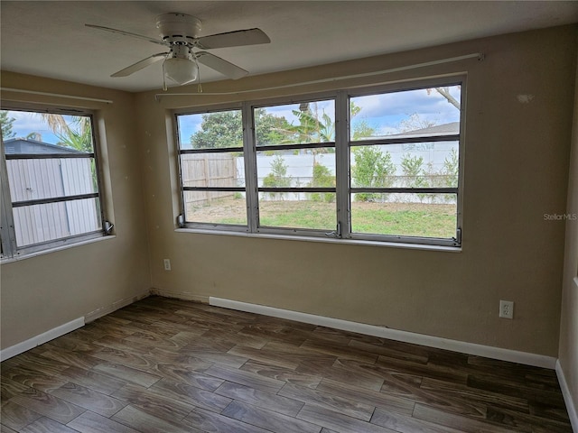
[[[258,27],[270,44],[211,51],[257,75],[578,22],[576,1],[2,0],[0,12],[3,70],[128,91],[161,88],[161,62],[110,75],[163,48],[84,23],[152,38],[167,12],[200,18],[201,36]],[[224,78],[203,66],[200,74]]]

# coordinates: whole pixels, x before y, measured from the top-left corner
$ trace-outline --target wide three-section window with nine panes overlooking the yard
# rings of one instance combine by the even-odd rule
[[[461,244],[461,78],[178,112],[182,226]]]

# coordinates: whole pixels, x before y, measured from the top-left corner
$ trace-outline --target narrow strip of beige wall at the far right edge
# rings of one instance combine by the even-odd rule
[[[578,78],[578,69],[576,70]],[[560,322],[559,361],[564,378],[573,396],[573,410],[578,413],[578,88],[575,90],[570,180]]]

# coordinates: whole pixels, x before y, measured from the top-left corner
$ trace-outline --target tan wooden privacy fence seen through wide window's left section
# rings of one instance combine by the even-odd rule
[[[185,187],[238,187],[237,164],[230,153],[184,154],[181,156]],[[231,191],[188,191],[185,205],[202,206],[216,198],[233,197]]]

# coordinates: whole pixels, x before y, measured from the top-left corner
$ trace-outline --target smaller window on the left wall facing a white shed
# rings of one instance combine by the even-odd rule
[[[0,115],[2,257],[104,235],[91,115]]]

